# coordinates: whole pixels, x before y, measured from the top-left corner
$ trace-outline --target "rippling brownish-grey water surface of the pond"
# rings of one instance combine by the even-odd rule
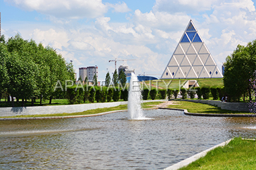
[[[255,119],[150,110],[59,120],[0,122],[0,169],[163,169],[233,136],[255,137]]]

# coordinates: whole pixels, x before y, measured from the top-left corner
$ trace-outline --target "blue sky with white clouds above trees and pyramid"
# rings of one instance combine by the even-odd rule
[[[51,46],[67,62],[98,66],[98,81],[115,62],[137,75],[161,77],[192,19],[221,69],[238,44],[256,39],[251,0],[0,0],[1,34]],[[131,60],[132,59],[132,60]]]

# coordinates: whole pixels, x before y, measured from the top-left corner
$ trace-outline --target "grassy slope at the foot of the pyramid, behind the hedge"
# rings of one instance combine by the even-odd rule
[[[172,80],[172,82],[170,83],[170,85],[168,86],[169,89],[179,89],[179,85],[184,84],[185,82],[187,82],[189,79],[160,79],[158,80],[158,87],[164,88],[166,89],[166,85],[168,85],[168,83],[170,82],[170,80]],[[191,79],[191,80],[197,80],[197,83],[199,84],[199,86],[222,86],[223,85],[223,79]],[[164,83],[164,82],[165,83]],[[150,81],[145,81],[146,85],[149,86]],[[146,88],[146,85],[144,83],[144,88]],[[156,86],[157,83],[156,81],[151,81],[151,85]],[[152,86],[152,89],[156,88]]]

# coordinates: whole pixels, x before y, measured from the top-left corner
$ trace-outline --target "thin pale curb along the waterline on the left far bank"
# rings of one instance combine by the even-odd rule
[[[156,110],[158,108],[146,108],[143,110]],[[84,118],[92,116],[102,116],[105,114],[113,114],[116,112],[127,112],[128,110],[113,110],[109,112],[102,112],[99,114],[73,115],[73,116],[47,116],[47,117],[30,117],[30,118],[0,118],[1,120],[42,120],[42,119],[64,119],[64,118]]]

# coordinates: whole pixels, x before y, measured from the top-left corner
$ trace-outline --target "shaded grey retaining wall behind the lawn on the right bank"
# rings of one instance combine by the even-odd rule
[[[222,101],[215,101],[215,100],[201,100],[201,99],[183,99],[183,101],[192,101],[195,103],[204,103],[215,105],[222,110],[233,110],[239,112],[250,112],[248,103],[232,103],[232,102],[222,102]]]

